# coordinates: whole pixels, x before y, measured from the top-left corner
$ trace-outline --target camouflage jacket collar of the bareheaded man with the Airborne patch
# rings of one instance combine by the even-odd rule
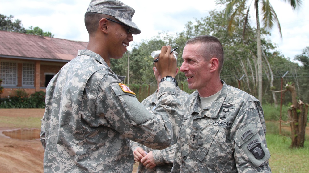
[[[223,84],[223,87],[222,87],[222,91],[221,91],[220,95],[218,95],[218,98],[214,102],[212,102],[209,106],[205,107],[203,110],[201,109],[201,100],[200,100],[199,94],[197,94],[192,113],[193,112],[197,112],[197,113],[201,112],[201,114],[197,115],[197,116],[199,116],[199,118],[202,118],[204,116],[209,117],[209,118],[217,118],[218,117],[218,113],[220,111],[220,108],[222,107],[222,104],[223,104],[224,99],[226,98],[226,94],[227,94],[227,86],[226,86],[225,82],[223,80],[221,80],[221,83]]]

